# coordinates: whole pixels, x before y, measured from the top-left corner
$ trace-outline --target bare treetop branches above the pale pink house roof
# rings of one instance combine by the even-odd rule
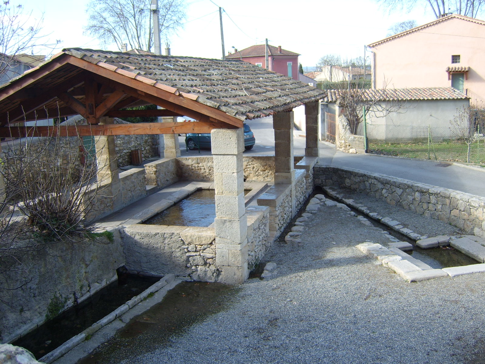
[[[431,10],[438,19],[443,14],[460,14],[466,17],[477,17],[483,14],[485,0],[376,0],[379,4],[391,11],[406,11],[420,6]]]

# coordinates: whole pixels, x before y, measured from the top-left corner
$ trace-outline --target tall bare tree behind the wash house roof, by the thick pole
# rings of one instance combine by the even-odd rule
[[[92,0],[87,5],[88,25],[85,30],[105,45],[123,43],[131,49],[151,51],[153,24],[150,0]],[[160,31],[168,36],[183,25],[183,0],[159,0]]]

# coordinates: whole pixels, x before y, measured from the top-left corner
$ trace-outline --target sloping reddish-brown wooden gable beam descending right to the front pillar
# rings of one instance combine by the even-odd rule
[[[216,108],[210,107],[208,105],[204,105],[204,104],[197,102],[195,100],[185,98],[185,97],[182,97],[182,96],[177,96],[177,95],[175,95],[171,92],[162,90],[162,89],[155,87],[155,86],[151,86],[151,85],[144,83],[144,82],[141,82],[141,81],[137,81],[135,79],[132,79],[132,78],[129,78],[125,75],[122,75],[121,73],[113,72],[113,71],[108,70],[104,67],[94,65],[90,62],[81,60],[81,59],[76,58],[76,57],[72,57],[71,60],[70,60],[70,63],[75,65],[75,66],[79,66],[81,68],[84,68],[88,71],[91,71],[95,75],[102,76],[102,77],[105,77],[107,79],[113,80],[114,82],[116,82],[120,85],[128,86],[132,89],[138,90],[140,92],[140,95],[142,95],[142,94],[144,96],[152,95],[152,96],[155,96],[157,99],[165,100],[166,102],[169,102],[172,105],[178,105],[178,106],[183,107],[186,110],[193,110],[197,113],[212,117],[212,118],[217,119],[217,120],[224,121],[225,123],[230,124],[230,125],[234,125],[238,128],[242,128],[242,123],[243,123],[242,120],[240,120],[240,119],[238,119],[234,116],[230,116],[230,115],[226,114],[225,112],[218,110]],[[119,87],[116,87],[116,89],[119,89],[121,91],[125,91],[125,93],[127,93],[127,94],[131,94],[131,93],[126,92],[126,90],[124,90],[123,88],[120,89]],[[142,99],[142,98],[140,97],[140,99]],[[157,105],[165,107],[164,105],[161,105],[159,103],[157,103]],[[173,107],[172,108],[165,107],[165,108],[170,109],[170,110],[174,110]],[[174,111],[177,111],[177,110],[174,110]],[[190,116],[189,114],[184,114],[184,115]]]

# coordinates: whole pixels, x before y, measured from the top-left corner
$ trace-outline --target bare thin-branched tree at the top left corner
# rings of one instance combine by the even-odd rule
[[[2,1],[0,18],[0,80],[3,82],[25,71],[18,67],[22,54],[33,54],[38,47],[52,50],[61,42],[49,42],[49,34],[42,32],[43,18],[32,17],[32,12],[26,12],[20,4],[12,5],[8,0]]]

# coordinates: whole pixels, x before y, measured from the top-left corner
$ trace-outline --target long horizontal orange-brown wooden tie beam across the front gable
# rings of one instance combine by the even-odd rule
[[[220,125],[212,122],[97,124],[78,126],[1,127],[0,137],[146,135],[210,132]]]

